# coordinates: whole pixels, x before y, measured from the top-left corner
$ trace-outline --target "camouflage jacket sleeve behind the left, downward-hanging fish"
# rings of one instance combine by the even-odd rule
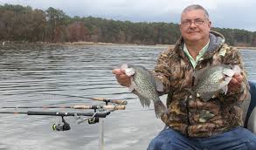
[[[157,59],[155,69],[153,70],[153,74],[156,78],[160,79],[163,83],[163,92],[158,92],[159,95],[163,95],[170,92],[170,52],[172,50],[169,49],[167,51],[163,51],[160,57]]]

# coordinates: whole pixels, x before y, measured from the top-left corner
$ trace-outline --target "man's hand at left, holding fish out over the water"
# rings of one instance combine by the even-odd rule
[[[131,78],[125,74],[125,72],[121,71],[121,69],[114,69],[112,71],[115,74],[115,78],[120,85],[129,87],[131,85]]]

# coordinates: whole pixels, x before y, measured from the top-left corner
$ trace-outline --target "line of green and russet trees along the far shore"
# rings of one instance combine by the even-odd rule
[[[229,44],[255,46],[256,32],[214,28]],[[132,23],[99,17],[69,17],[50,7],[0,5],[0,41],[15,42],[104,42],[120,44],[175,44],[180,37],[178,24]]]

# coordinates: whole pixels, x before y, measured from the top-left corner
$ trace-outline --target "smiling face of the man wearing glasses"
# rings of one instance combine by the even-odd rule
[[[184,11],[181,18],[180,31],[185,42],[206,41],[209,38],[211,22],[204,10]]]

